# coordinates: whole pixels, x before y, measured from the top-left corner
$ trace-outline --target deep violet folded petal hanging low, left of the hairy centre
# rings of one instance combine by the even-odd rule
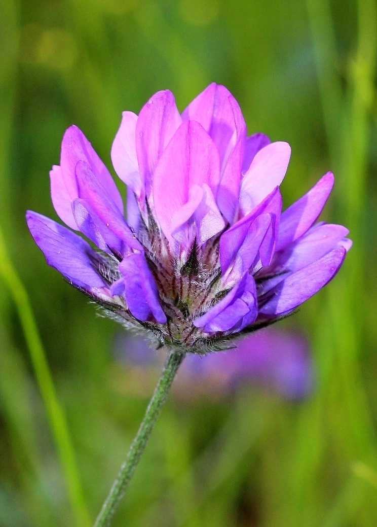
[[[132,253],[119,264],[124,277],[124,296],[127,307],[138,320],[155,319],[159,324],[166,324],[156,283],[148,268],[144,255]]]

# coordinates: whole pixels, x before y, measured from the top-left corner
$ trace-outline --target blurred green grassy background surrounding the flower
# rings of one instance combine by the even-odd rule
[[[331,285],[283,324],[310,339],[313,395],[292,403],[249,387],[221,401],[170,398],[114,526],[376,525],[376,12],[373,0],[0,0],[0,227],[92,521],[147,397],[114,364],[115,323],[46,266],[25,210],[57,218],[48,170],[67,126],[111,167],[122,110],[138,113],[166,88],[183,110],[215,81],[239,101],[249,133],[291,144],[285,206],[334,171],[323,218],[344,223],[354,246]],[[7,273],[0,525],[78,526]]]

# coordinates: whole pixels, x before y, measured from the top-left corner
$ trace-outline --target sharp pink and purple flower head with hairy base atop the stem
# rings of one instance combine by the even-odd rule
[[[333,186],[328,172],[282,213],[290,159],[246,125],[215,83],[180,114],[158,92],[124,112],[111,150],[121,194],[84,134],[71,126],[50,172],[58,223],[28,211],[47,263],[127,328],[157,345],[205,353],[290,314],[338,272],[352,242],[315,223]]]

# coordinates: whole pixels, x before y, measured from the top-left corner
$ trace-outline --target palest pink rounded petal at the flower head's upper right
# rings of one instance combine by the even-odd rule
[[[284,142],[271,143],[257,152],[241,183],[240,206],[243,214],[253,210],[280,185],[290,157],[291,147]]]

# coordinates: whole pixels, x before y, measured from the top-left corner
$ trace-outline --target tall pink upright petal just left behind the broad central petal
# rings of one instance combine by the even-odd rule
[[[138,116],[136,152],[141,182],[147,197],[157,162],[181,123],[174,95],[169,90],[155,93]]]

